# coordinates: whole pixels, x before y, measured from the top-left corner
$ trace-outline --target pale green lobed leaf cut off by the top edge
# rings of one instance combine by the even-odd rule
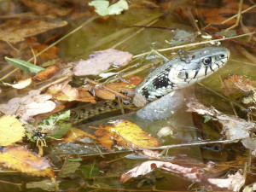
[[[119,15],[123,10],[128,9],[128,3],[125,0],[119,0],[109,6],[107,0],[94,0],[89,3],[90,6],[95,7],[98,15]]]

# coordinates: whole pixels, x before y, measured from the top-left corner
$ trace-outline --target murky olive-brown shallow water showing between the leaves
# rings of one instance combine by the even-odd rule
[[[218,2],[218,1],[217,1]],[[211,5],[214,7],[213,3]],[[216,4],[218,7],[218,4]],[[96,18],[91,21],[89,24],[84,26],[79,32],[73,33],[69,38],[66,38],[58,46],[61,48],[61,58],[66,61],[78,61],[80,58],[86,59],[90,53],[96,50],[114,48],[129,51],[133,55],[142,54],[150,51],[151,49],[164,49],[169,48],[170,44],[166,43],[170,41],[175,35],[175,32],[172,29],[183,29],[189,32],[195,32],[195,28],[189,23],[189,20],[180,20],[177,14],[172,14],[172,9],[146,9],[144,7],[131,8],[125,11],[121,15],[109,16],[108,18]],[[85,20],[89,19],[84,18],[77,21],[71,21],[69,26],[66,27],[66,32],[70,32],[72,28],[79,26]],[[157,29],[157,28],[143,28],[143,27],[129,27],[129,26],[147,26],[150,22],[153,22],[151,26],[164,26],[169,29]],[[202,41],[202,38],[196,38],[196,41]],[[186,44],[190,44],[187,42]],[[222,94],[221,89],[221,80],[224,77],[229,76],[230,74],[245,75],[251,79],[256,79],[255,67],[253,65],[247,65],[243,62],[252,63],[244,55],[241,55],[240,51],[236,49],[236,46],[232,42],[222,42],[222,46],[227,47],[231,51],[230,61],[219,70],[217,73],[212,74],[212,76],[204,79],[201,83],[205,84],[208,88],[217,91]],[[209,44],[207,44],[209,46]],[[201,46],[189,47],[189,49],[199,49]],[[186,49],[186,50],[189,50]],[[161,54],[165,55],[168,58],[172,58],[175,54],[175,51],[166,51]],[[138,63],[138,66],[146,65],[150,62],[157,61],[158,59],[145,61],[145,57],[139,58],[133,61],[133,64]],[[236,61],[232,61],[236,60]],[[238,62],[237,62],[238,61]],[[143,63],[143,64],[140,64]],[[254,63],[255,64],[255,63]],[[138,75],[145,76],[145,74],[150,73],[151,69],[139,73]],[[200,99],[202,102],[207,103],[208,105],[214,106],[218,110],[233,114],[230,102],[227,102],[223,98],[217,96],[212,91],[207,90],[202,87],[200,84],[193,85],[192,88],[188,88],[187,94],[185,95],[185,102],[189,99],[190,95],[194,95]],[[244,113],[242,113],[244,115]],[[198,117],[197,117],[198,118]],[[198,141],[198,138],[201,137],[200,133],[197,132],[198,128],[195,127],[195,117],[192,113],[186,112],[186,106],[183,104],[175,113],[166,117],[165,119],[150,121],[147,119],[140,119],[137,117],[136,113],[128,113],[120,116],[114,116],[112,114],[107,114],[101,116],[100,118],[90,119],[90,123],[83,122],[77,127],[88,130],[89,125],[99,125],[102,123],[107,123],[109,120],[114,119],[129,119],[131,122],[141,126],[143,130],[148,131],[151,135],[156,137],[157,132],[166,126],[171,126],[174,130],[174,134],[169,137],[161,138],[162,145],[170,145],[176,143],[190,143]],[[199,118],[200,119],[200,118]],[[94,121],[96,120],[96,121]],[[93,122],[92,122],[93,121]],[[202,119],[201,119],[202,121]],[[206,125],[208,128],[211,128],[211,125]],[[213,127],[213,125],[212,125]],[[211,135],[212,134],[212,135]],[[214,135],[215,134],[215,135]],[[220,139],[218,131],[212,131],[207,133],[207,138]],[[236,145],[236,144],[234,144]],[[208,150],[202,150],[199,146],[194,147],[183,147],[183,148],[172,148],[169,150],[168,155],[177,161],[187,161],[191,163],[189,166],[201,166],[202,163],[207,162],[207,160],[216,160],[216,161],[227,161],[227,160],[236,160],[236,157],[241,157],[241,154],[233,154],[234,150],[230,148],[236,148],[229,145],[229,148],[225,148],[220,153],[217,152],[206,152]],[[237,152],[238,153],[238,152]],[[215,156],[214,156],[214,155]],[[83,164],[85,166],[92,165],[96,163],[96,167],[102,161],[108,161],[113,159],[118,159],[123,157],[123,154],[117,154],[114,156],[107,155],[104,158],[98,158],[94,162],[92,160],[84,160]],[[221,158],[218,158],[221,157]],[[246,157],[246,156],[243,156]],[[190,182],[186,181],[177,176],[173,176],[170,173],[166,172],[156,172],[152,176],[146,178],[145,185],[142,188],[137,188],[137,182],[135,183],[119,183],[119,176],[126,170],[131,169],[133,166],[138,163],[143,162],[143,160],[113,160],[113,164],[107,170],[104,170],[104,173],[97,173],[93,177],[79,177],[79,179],[86,180],[87,183],[91,185],[98,184],[102,186],[101,191],[112,191],[108,188],[113,189],[152,189],[154,186],[156,189],[162,189],[166,191],[170,190],[183,190],[186,191],[189,189]],[[186,166],[186,165],[184,165]],[[98,168],[98,167],[97,167]],[[85,169],[84,169],[85,170]],[[86,170],[85,170],[86,171]],[[85,172],[84,171],[84,172]],[[0,175],[0,180],[9,180],[9,176]],[[12,178],[13,182],[21,183],[24,181],[24,177],[21,175],[15,175]],[[26,177],[27,181],[39,180],[35,177]],[[94,181],[93,181],[94,180]],[[154,181],[156,180],[156,182]],[[154,183],[155,182],[155,183]],[[64,184],[65,183],[65,184]],[[73,178],[67,178],[67,183],[63,182],[61,189],[69,189],[71,187],[79,188],[79,182]],[[198,185],[205,186],[206,183],[200,183]],[[4,191],[20,191],[17,187],[10,187],[8,184],[3,185]],[[0,186],[1,186],[0,185]],[[64,187],[64,185],[66,185]],[[206,184],[207,185],[207,184]],[[201,187],[198,186],[198,187]],[[104,188],[105,187],[105,188]],[[196,186],[195,186],[196,187]],[[82,188],[78,191],[90,191],[92,188]],[[36,191],[36,190],[26,190],[24,191]],[[37,190],[41,191],[41,190]]]

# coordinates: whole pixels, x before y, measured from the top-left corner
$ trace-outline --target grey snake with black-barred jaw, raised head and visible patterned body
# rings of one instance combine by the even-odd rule
[[[223,47],[207,47],[189,51],[189,57],[175,56],[150,73],[135,90],[133,103],[143,107],[161,96],[166,96],[172,90],[195,84],[201,79],[218,71],[230,57],[230,50]],[[100,113],[118,110],[117,102],[97,102],[71,110],[73,124]]]

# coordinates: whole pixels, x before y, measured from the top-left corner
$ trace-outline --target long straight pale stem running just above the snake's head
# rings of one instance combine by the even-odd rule
[[[248,32],[246,34],[241,34],[241,35],[237,35],[237,36],[230,37],[230,38],[219,38],[219,39],[213,39],[213,40],[204,41],[204,42],[198,42],[198,43],[194,43],[194,44],[184,44],[184,45],[179,45],[179,46],[176,46],[176,47],[170,47],[170,48],[166,48],[166,49],[157,49],[156,51],[163,52],[163,51],[166,51],[166,50],[182,49],[182,48],[185,48],[185,47],[193,47],[193,46],[199,45],[199,44],[208,44],[208,43],[224,41],[224,40],[232,39],[232,38],[241,38],[241,37],[245,37],[245,36],[248,36],[248,35],[253,35],[255,33],[256,32]],[[143,54],[134,55],[133,58],[137,58],[137,57],[143,56],[143,55],[148,55],[148,53],[150,53],[150,51],[148,51],[146,53],[143,53]]]

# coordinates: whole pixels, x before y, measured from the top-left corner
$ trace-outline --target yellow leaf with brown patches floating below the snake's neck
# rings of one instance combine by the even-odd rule
[[[113,125],[100,125],[95,133],[104,148],[111,150],[114,143],[125,148],[154,148],[160,141],[129,120],[116,120]]]

